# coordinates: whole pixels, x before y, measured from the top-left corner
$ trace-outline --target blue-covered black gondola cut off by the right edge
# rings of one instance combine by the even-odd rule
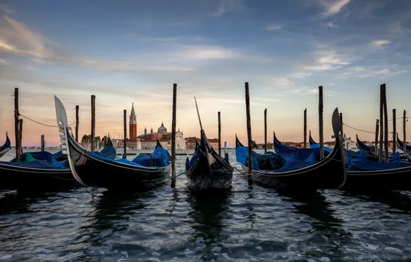
[[[361,191],[410,190],[411,163],[379,163],[368,157],[347,166],[347,181],[343,188]]]

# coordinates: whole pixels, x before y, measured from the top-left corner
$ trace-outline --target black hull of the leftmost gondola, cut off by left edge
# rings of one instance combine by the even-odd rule
[[[38,191],[79,185],[70,170],[23,168],[0,163],[0,189]]]

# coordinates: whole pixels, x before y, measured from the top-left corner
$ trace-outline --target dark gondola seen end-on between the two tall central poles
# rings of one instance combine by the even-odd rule
[[[230,189],[233,171],[228,153],[224,159],[220,157],[201,130],[201,140],[199,143],[196,139],[192,159],[186,159],[188,188],[192,191]]]

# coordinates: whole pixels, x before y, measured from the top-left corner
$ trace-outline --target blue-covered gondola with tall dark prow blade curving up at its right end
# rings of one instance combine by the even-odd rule
[[[299,161],[293,159],[294,157],[283,159],[272,152],[268,154],[253,152],[251,165],[254,181],[272,188],[301,190],[341,188],[345,183],[346,176],[340,143],[341,121],[337,108],[332,114],[332,129],[336,145],[327,157],[319,161],[315,161],[314,154],[310,154],[310,161]],[[236,157],[244,174],[248,173],[247,150],[236,137]],[[265,166],[271,165],[272,170],[270,168],[261,169],[260,166],[263,162],[267,163]],[[275,164],[279,166],[276,168]]]

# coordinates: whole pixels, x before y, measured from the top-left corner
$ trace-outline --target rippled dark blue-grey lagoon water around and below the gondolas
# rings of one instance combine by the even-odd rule
[[[185,158],[177,158],[177,172]],[[411,259],[411,192],[284,194],[248,188],[236,174],[225,195],[192,196],[181,176],[174,190],[142,194],[77,188],[3,196],[0,261]]]

